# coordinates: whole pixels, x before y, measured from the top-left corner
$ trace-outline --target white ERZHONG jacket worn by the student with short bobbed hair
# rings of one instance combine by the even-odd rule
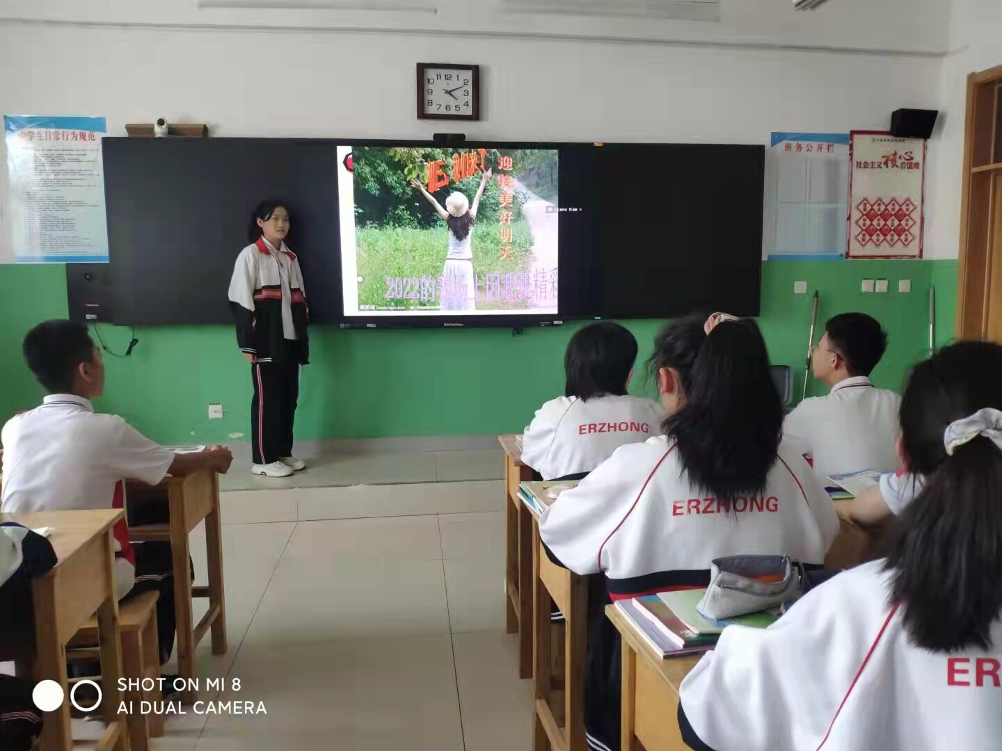
[[[637,397],[560,397],[525,429],[522,461],[543,480],[591,472],[620,446],[659,436],[664,418],[660,406]]]

